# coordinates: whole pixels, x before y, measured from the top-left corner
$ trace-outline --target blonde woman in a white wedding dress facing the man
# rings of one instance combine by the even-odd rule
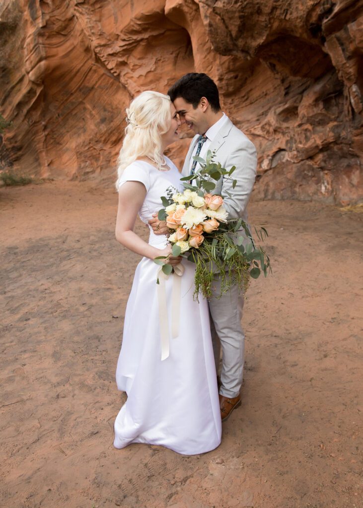
[[[201,296],[199,303],[193,300],[194,264],[172,257],[166,236],[149,227],[146,243],[134,233],[137,215],[147,224],[162,208],[161,196],[170,188],[180,190],[180,174],[163,154],[177,141],[180,121],[169,96],[154,91],[142,92],[126,111],[116,182],[116,239],[143,258],[127,303],[117,362],[117,388],[127,393],[127,401],[115,420],[113,444],[149,443],[180,454],[204,453],[221,442],[208,304]],[[167,278],[159,273],[154,262],[158,256],[170,256],[175,273]],[[169,337],[176,314],[177,333]]]

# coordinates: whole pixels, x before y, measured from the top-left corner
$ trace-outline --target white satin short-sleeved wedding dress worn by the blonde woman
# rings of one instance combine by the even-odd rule
[[[180,174],[166,158],[170,171],[135,161],[122,176],[142,182],[147,190],[139,211],[147,224],[162,208],[161,196],[170,186],[180,190]],[[149,244],[166,246],[164,235],[150,228]],[[114,424],[114,447],[130,443],[159,444],[177,453],[194,455],[217,448],[221,442],[221,417],[208,303],[193,301],[195,265],[183,259],[179,334],[170,338],[170,354],[161,360],[161,334],[154,261],[143,258],[135,272],[126,307],[124,334],[116,369],[118,390],[127,393]],[[165,281],[169,328],[174,275]]]

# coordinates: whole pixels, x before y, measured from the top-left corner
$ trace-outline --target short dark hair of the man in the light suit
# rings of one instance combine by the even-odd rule
[[[168,90],[172,101],[181,97],[195,109],[202,97],[205,97],[211,109],[217,113],[221,110],[219,92],[216,83],[204,73],[191,72],[178,79]]]

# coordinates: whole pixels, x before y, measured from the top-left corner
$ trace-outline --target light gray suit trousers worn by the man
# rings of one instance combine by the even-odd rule
[[[219,278],[213,282],[216,295],[220,294]],[[245,334],[241,327],[244,306],[243,292],[238,294],[234,285],[221,298],[209,300],[210,332],[218,372],[222,347],[221,388],[219,393],[233,398],[239,395],[245,361]]]

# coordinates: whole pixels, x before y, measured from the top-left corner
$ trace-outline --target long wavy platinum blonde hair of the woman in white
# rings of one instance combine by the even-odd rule
[[[170,104],[169,96],[147,90],[126,109],[128,125],[117,159],[117,190],[124,169],[138,157],[148,155],[158,167],[163,164],[161,136],[170,129]]]

